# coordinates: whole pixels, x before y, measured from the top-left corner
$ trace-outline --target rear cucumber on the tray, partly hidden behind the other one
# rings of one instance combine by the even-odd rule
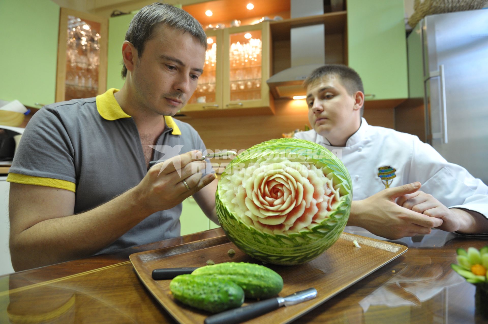
[[[225,262],[199,267],[192,275],[209,275],[241,286],[247,298],[269,298],[283,289],[283,278],[268,267],[245,262]]]

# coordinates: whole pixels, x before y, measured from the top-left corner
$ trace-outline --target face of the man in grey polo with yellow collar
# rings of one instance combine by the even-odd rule
[[[172,116],[197,88],[205,49],[189,33],[159,25],[134,61],[131,78],[138,102],[150,112]]]

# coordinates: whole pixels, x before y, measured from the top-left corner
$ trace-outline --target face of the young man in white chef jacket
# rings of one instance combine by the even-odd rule
[[[349,95],[339,76],[317,79],[307,87],[308,121],[320,135],[328,138],[349,137],[357,131],[359,109],[354,95]]]

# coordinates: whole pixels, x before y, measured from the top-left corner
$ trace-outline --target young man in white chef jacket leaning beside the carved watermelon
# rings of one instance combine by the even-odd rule
[[[313,129],[295,137],[340,152],[353,184],[348,226],[388,239],[432,228],[488,233],[488,187],[417,136],[368,125],[363,84],[354,70],[325,65],[304,85]]]

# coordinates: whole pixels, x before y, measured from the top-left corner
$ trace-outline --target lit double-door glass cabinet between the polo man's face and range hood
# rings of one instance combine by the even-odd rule
[[[182,113],[195,117],[274,114],[266,84],[271,71],[269,22],[207,35],[211,45],[205,72]]]

